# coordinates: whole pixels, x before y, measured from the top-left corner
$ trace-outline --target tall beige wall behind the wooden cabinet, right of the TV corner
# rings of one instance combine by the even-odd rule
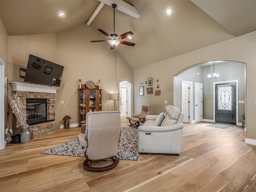
[[[92,80],[97,85],[101,80],[102,110],[114,110],[110,94],[119,92],[120,81],[133,83],[133,69],[115,50],[110,50],[108,43],[90,42],[94,38],[102,37],[95,29],[84,24],[57,34],[57,63],[64,66],[60,94],[56,98],[57,119],[69,115],[71,124],[78,122],[79,79],[82,84]]]

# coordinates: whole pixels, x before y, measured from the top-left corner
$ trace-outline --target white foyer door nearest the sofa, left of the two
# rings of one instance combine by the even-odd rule
[[[184,114],[183,122],[189,123],[189,89],[190,84],[182,82],[181,90],[181,112]]]

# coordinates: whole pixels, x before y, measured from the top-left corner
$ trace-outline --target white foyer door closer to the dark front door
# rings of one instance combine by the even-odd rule
[[[203,84],[195,83],[195,122],[203,121]]]

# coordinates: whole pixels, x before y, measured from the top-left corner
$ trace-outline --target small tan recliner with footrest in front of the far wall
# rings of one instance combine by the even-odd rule
[[[138,127],[140,126],[140,123],[144,123],[146,115],[150,115],[150,110],[150,105],[142,105],[140,114],[132,114],[132,117],[127,117],[130,122],[129,126]],[[131,121],[133,121],[134,123]]]

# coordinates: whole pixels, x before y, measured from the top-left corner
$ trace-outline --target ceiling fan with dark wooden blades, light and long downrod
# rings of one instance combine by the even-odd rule
[[[109,35],[106,32],[104,32],[104,30],[98,29],[106,37],[110,38],[110,40],[98,40],[98,41],[91,41],[91,42],[109,42],[110,49],[114,49],[119,43],[124,44],[124,45],[134,46],[135,43],[123,40],[124,38],[127,38],[127,37],[133,35],[133,33],[131,31],[126,32],[126,33],[121,34],[121,35],[115,34],[115,8],[116,8],[116,4],[112,4],[112,8],[114,8],[114,33]]]

